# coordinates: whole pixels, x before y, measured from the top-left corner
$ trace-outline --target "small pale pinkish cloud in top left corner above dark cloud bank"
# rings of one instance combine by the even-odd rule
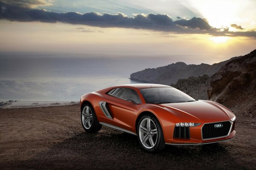
[[[1,2],[25,8],[35,8],[38,6],[52,6],[51,0],[1,0]]]

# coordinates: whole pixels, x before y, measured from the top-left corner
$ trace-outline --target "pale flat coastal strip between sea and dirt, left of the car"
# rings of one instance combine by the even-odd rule
[[[48,101],[35,101],[35,100],[0,100],[0,108],[40,108],[49,106],[67,106],[67,105],[77,105],[79,101],[71,100],[48,100]]]

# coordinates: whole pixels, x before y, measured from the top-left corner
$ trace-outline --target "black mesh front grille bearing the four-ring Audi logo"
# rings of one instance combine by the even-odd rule
[[[219,124],[222,124],[222,127],[220,127]],[[202,128],[203,139],[227,136],[230,131],[230,126],[231,123],[229,121],[204,124]]]

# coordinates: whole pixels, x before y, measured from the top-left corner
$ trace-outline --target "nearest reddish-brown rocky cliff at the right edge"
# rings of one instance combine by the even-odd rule
[[[233,110],[256,113],[256,50],[224,65],[211,77],[210,100]]]

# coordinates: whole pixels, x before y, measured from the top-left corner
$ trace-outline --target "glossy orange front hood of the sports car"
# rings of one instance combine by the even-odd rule
[[[221,104],[208,100],[160,104],[182,122],[221,122],[233,118],[233,113]]]

